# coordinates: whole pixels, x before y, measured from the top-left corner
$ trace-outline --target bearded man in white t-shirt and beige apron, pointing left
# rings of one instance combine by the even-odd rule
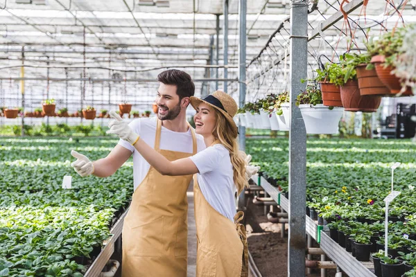
[[[202,136],[186,119],[195,91],[191,76],[173,69],[157,80],[157,118],[139,118],[130,127],[170,160],[204,150]],[[107,157],[94,162],[73,151],[77,160],[72,166],[83,177],[108,177],[133,154],[135,193],[123,226],[122,276],[187,276],[187,188],[192,176],[160,175],[135,151],[134,143],[120,140]]]

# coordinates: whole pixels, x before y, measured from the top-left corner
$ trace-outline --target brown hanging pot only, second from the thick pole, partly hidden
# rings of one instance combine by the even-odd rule
[[[358,81],[349,80],[341,87],[341,100],[345,111],[376,111],[381,102],[381,96],[361,96]]]

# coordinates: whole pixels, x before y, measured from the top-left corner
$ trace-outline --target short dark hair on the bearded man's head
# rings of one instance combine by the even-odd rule
[[[182,70],[169,69],[157,75],[157,80],[164,84],[176,86],[176,94],[179,99],[191,97],[195,94],[195,84],[193,84],[191,75]]]

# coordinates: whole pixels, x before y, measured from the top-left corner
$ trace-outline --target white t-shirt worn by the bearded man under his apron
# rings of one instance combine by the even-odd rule
[[[129,126],[132,127],[133,131],[140,135],[140,139],[143,139],[152,148],[155,146],[156,125],[156,117],[138,118],[129,123]],[[206,148],[204,138],[200,134],[196,134],[196,143],[198,152]],[[127,148],[133,153],[133,179],[136,190],[139,184],[143,181],[144,177],[146,177],[150,164],[143,157],[141,157],[141,154],[135,150],[135,147],[127,141],[120,139],[119,145]],[[160,149],[192,153],[191,129],[189,129],[188,132],[173,132],[162,126],[162,132],[160,134]]]

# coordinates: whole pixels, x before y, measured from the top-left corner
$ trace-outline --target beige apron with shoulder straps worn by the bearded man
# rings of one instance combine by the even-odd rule
[[[191,128],[191,127],[190,127]],[[162,121],[157,120],[155,150],[169,161],[196,154],[196,136],[191,128],[193,153],[160,150]],[[192,175],[164,176],[150,166],[132,196],[123,225],[123,277],[186,277],[188,201]]]

